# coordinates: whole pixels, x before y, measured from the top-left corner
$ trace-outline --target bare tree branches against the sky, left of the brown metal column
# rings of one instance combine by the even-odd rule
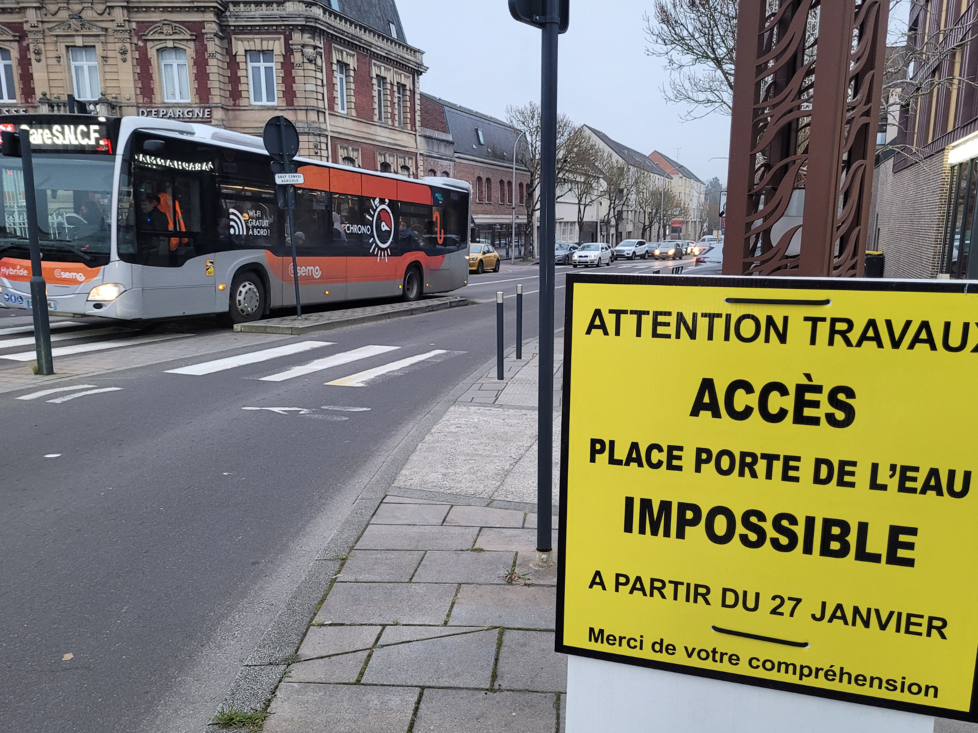
[[[686,119],[730,114],[737,0],[655,0],[645,14],[645,54],[665,60],[669,102],[686,105]]]

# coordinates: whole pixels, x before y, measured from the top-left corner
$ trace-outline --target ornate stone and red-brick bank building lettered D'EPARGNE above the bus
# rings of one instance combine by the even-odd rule
[[[0,113],[170,117],[260,134],[295,121],[300,154],[417,176],[422,52],[394,0],[0,7]]]

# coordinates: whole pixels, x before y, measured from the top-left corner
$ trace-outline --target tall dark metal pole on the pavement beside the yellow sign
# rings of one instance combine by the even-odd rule
[[[537,561],[552,562],[554,456],[554,227],[558,0],[546,0],[540,90],[540,374],[537,415]]]

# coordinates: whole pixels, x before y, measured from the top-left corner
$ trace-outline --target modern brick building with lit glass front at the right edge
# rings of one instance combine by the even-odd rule
[[[905,65],[890,70],[884,90],[877,145],[887,147],[875,160],[867,237],[884,252],[888,278],[978,278],[978,260],[968,258],[978,199],[976,24],[975,4],[911,4]]]

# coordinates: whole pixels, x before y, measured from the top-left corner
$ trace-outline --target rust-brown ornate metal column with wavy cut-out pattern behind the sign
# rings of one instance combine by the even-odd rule
[[[724,273],[862,275],[883,0],[741,0]]]

